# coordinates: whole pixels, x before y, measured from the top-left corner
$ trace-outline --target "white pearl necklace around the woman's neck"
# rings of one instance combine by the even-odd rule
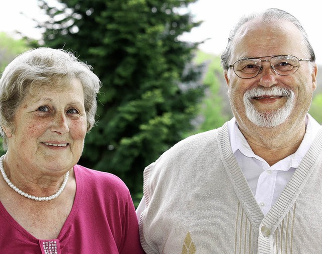
[[[6,172],[4,170],[4,157],[5,157],[5,155],[2,155],[0,157],[0,172],[3,176],[3,178],[5,179],[5,181],[7,182],[7,184],[10,186],[10,188],[13,189],[15,192],[18,192],[21,196],[24,196],[28,199],[32,199],[35,201],[49,201],[49,200],[53,200],[53,199],[57,198],[62,193],[62,191],[65,189],[67,181],[68,181],[68,177],[69,177],[69,171],[66,173],[64,181],[62,182],[62,185],[60,186],[59,190],[54,195],[51,195],[49,197],[35,197],[32,195],[29,195],[28,193],[23,192],[22,190],[18,189],[7,177]]]

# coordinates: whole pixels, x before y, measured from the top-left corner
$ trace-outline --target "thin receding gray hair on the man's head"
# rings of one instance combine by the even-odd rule
[[[306,34],[303,26],[301,25],[301,23],[291,14],[289,14],[285,11],[276,9],[276,8],[271,8],[271,9],[267,9],[263,13],[251,14],[249,16],[242,17],[239,20],[239,22],[236,24],[236,26],[230,31],[227,47],[224,50],[224,52],[221,54],[221,66],[224,70],[228,70],[229,65],[231,64],[229,62],[232,57],[231,53],[232,53],[233,47],[236,42],[235,36],[236,36],[238,30],[245,23],[247,23],[251,20],[255,20],[255,19],[262,21],[264,23],[276,22],[276,21],[288,21],[288,22],[291,22],[292,24],[294,24],[297,27],[297,29],[300,31],[300,33],[302,34],[302,37],[304,39],[304,44],[307,48],[307,51],[308,51],[307,53],[309,54],[310,59],[312,60],[312,62],[315,62],[314,50],[308,41],[307,34]]]

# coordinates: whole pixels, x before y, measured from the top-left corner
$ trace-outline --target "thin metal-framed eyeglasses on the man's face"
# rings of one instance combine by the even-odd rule
[[[267,60],[260,58],[271,57]],[[233,68],[233,72],[240,78],[253,78],[260,73],[263,69],[262,62],[270,62],[271,67],[276,74],[286,76],[294,74],[299,66],[300,61],[312,61],[311,59],[299,59],[292,55],[273,55],[273,56],[261,56],[250,57],[240,59],[233,64],[229,65],[229,68]]]

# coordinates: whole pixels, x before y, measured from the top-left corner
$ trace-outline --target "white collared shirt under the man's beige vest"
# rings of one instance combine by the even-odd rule
[[[310,148],[320,125],[306,116],[306,132],[297,151],[270,166],[256,155],[244,135],[238,129],[235,118],[228,122],[232,152],[264,215],[274,205],[286,184],[292,177],[305,153]]]

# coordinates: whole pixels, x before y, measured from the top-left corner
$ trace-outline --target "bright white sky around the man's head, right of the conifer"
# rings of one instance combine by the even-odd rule
[[[190,5],[197,20],[204,20],[201,27],[194,29],[186,38],[211,39],[200,46],[201,49],[220,54],[226,47],[228,35],[241,16],[267,8],[278,8],[295,16],[304,27],[316,55],[316,62],[322,64],[322,19],[321,9],[312,2],[270,0],[240,1],[228,0],[227,5],[212,4],[214,0],[199,0]],[[295,3],[296,2],[296,3]],[[303,4],[298,4],[303,3]],[[223,8],[223,7],[224,8]]]

